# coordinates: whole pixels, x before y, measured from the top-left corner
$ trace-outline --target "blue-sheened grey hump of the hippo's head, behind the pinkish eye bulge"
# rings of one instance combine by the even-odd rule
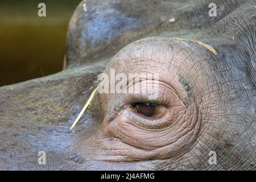
[[[68,67],[112,57],[147,33],[158,32],[160,24],[170,23],[163,21],[167,15],[162,9],[158,1],[82,1],[68,27]]]

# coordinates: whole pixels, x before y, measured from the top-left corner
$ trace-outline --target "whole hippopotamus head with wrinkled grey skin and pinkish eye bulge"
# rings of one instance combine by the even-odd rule
[[[255,18],[247,0],[82,1],[66,68],[0,88],[0,169],[255,170]],[[96,92],[70,130],[113,69],[158,74],[158,97]]]

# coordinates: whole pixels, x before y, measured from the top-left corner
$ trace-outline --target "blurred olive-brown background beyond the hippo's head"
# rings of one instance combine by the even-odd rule
[[[46,17],[38,4],[46,4]],[[0,1],[0,86],[61,71],[69,19],[80,1]]]

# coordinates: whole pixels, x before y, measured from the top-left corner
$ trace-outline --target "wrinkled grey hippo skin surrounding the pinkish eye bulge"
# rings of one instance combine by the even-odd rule
[[[210,2],[217,5],[216,17],[208,15]],[[0,88],[0,169],[256,169],[254,6],[254,1],[230,0],[82,1],[69,23],[67,69],[15,84],[14,90]],[[151,36],[158,38],[142,39]],[[191,69],[193,88],[204,84],[196,97],[201,122],[195,140],[167,159],[87,158],[77,146],[101,125],[98,96],[75,129],[69,127],[97,75],[135,40],[154,44],[165,37],[200,40],[217,51],[213,55],[199,44],[167,40],[195,51],[197,61],[180,66],[180,72]],[[46,165],[38,164],[38,151],[46,151]],[[216,165],[208,163],[210,151],[216,151]]]

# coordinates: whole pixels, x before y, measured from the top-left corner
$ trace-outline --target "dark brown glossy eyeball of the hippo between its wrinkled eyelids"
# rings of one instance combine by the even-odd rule
[[[133,108],[137,113],[143,114],[147,117],[159,117],[166,110],[165,106],[143,102],[133,105]]]

